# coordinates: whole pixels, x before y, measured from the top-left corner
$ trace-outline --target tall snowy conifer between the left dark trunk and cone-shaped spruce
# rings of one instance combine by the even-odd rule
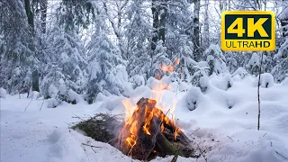
[[[50,97],[48,92],[49,85],[59,85],[58,80],[63,80],[67,88],[71,88],[77,93],[82,93],[87,78],[88,63],[85,56],[85,46],[80,36],[77,34],[80,27],[89,23],[81,16],[92,13],[87,11],[92,8],[91,4],[82,2],[87,7],[81,8],[84,4],[74,4],[65,1],[57,8],[56,23],[47,31],[47,36],[42,39],[45,42],[45,49],[40,84],[41,94]],[[75,10],[73,10],[75,6]],[[71,15],[73,14],[73,15]]]

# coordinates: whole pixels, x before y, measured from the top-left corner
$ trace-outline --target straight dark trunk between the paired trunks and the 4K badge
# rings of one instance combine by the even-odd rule
[[[193,56],[195,61],[199,61],[200,56],[200,30],[199,30],[200,0],[194,0],[193,17]]]

